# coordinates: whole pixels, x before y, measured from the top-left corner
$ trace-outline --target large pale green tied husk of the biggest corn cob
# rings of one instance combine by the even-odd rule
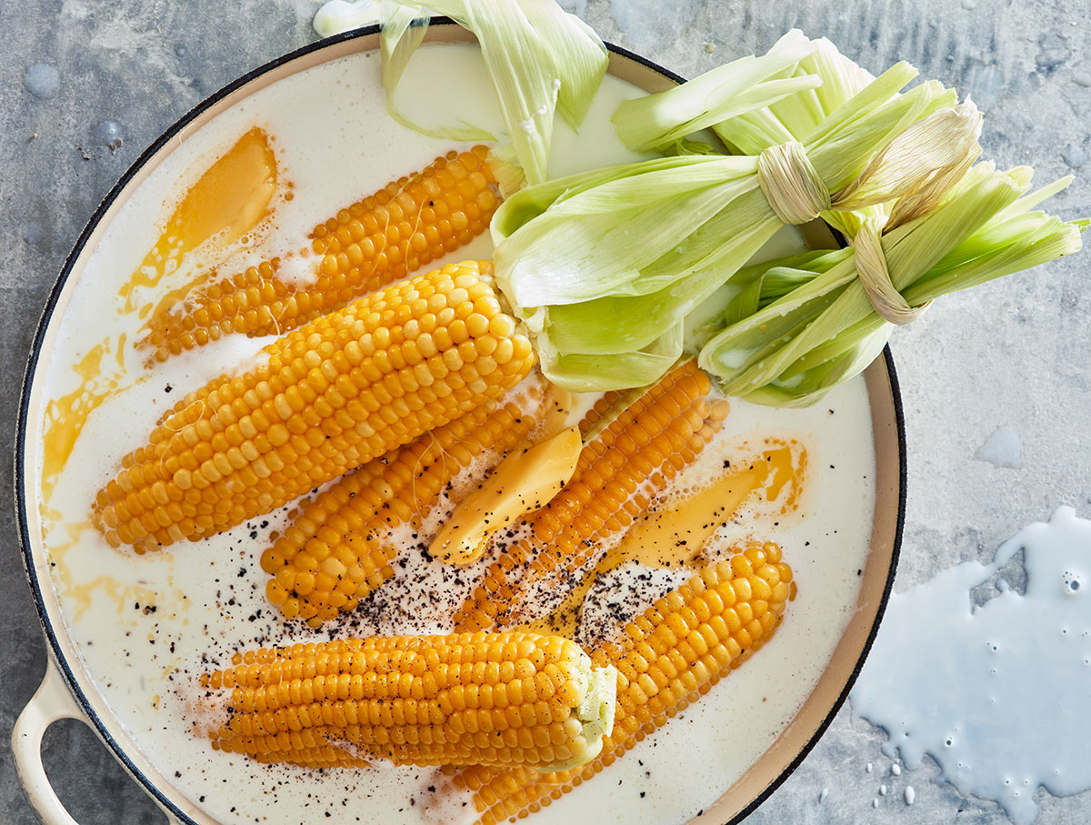
[[[806,50],[800,52],[802,60]],[[736,62],[745,63],[750,83],[762,65],[798,76],[798,67],[784,69],[783,61],[781,50]],[[899,93],[915,74],[908,64],[892,67],[815,125],[806,155],[830,192],[846,193],[837,208],[915,190],[949,164],[950,146],[964,146],[966,135],[976,148],[980,118],[972,107],[956,110],[954,92],[922,83]],[[782,92],[771,86],[763,101],[744,86],[732,101],[721,88],[716,100],[740,112],[815,93]],[[960,123],[954,138],[927,128],[951,112]],[[879,150],[921,124],[923,145],[906,147],[912,151],[900,160],[882,159]],[[679,146],[676,134],[669,140]],[[497,284],[535,333],[551,381],[575,391],[620,390],[652,383],[674,363],[686,315],[782,226],[757,166],[755,157],[686,152],[529,187],[501,206],[492,223]]]

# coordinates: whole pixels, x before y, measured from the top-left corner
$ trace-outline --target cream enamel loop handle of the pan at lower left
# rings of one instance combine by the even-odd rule
[[[41,737],[50,725],[60,719],[79,719],[84,724],[87,722],[87,718],[69,693],[60,671],[50,659],[41,684],[15,720],[15,728],[11,734],[11,750],[15,755],[15,770],[19,773],[20,781],[23,782],[26,796],[41,822],[45,825],[79,825],[64,810],[41,764]],[[169,813],[167,820],[170,825],[178,823]]]

